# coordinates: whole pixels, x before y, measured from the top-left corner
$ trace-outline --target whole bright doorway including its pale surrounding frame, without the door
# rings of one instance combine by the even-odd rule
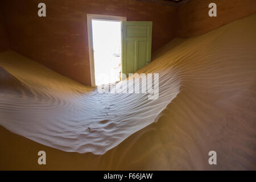
[[[121,81],[122,16],[88,14],[92,86]]]

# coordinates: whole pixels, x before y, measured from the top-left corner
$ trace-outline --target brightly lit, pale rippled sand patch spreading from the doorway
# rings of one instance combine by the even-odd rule
[[[6,56],[13,54],[7,52]],[[104,154],[154,122],[179,93],[178,78],[169,80],[168,76],[159,82],[165,86],[160,88],[157,100],[148,100],[148,94],[101,94],[97,89],[81,93],[77,88],[81,85],[73,85],[71,90],[65,82],[61,87],[55,84],[49,87],[44,86],[51,84],[47,78],[38,76],[35,85],[26,82],[32,75],[22,74],[22,77],[20,85],[27,85],[35,94],[23,97],[1,93],[0,108],[5,113],[1,125],[46,146],[69,152]]]

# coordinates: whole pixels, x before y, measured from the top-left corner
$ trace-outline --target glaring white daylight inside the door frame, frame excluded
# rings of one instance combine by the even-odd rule
[[[121,22],[92,20],[96,86],[121,80]]]

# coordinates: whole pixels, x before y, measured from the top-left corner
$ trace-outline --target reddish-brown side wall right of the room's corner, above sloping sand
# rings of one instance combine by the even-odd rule
[[[216,3],[217,17],[209,17],[209,3]],[[256,12],[256,0],[192,0],[179,6],[176,36],[201,35]]]

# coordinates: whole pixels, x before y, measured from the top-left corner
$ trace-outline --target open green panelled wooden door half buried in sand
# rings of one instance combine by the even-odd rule
[[[128,77],[151,61],[152,22],[122,22],[122,73]]]

